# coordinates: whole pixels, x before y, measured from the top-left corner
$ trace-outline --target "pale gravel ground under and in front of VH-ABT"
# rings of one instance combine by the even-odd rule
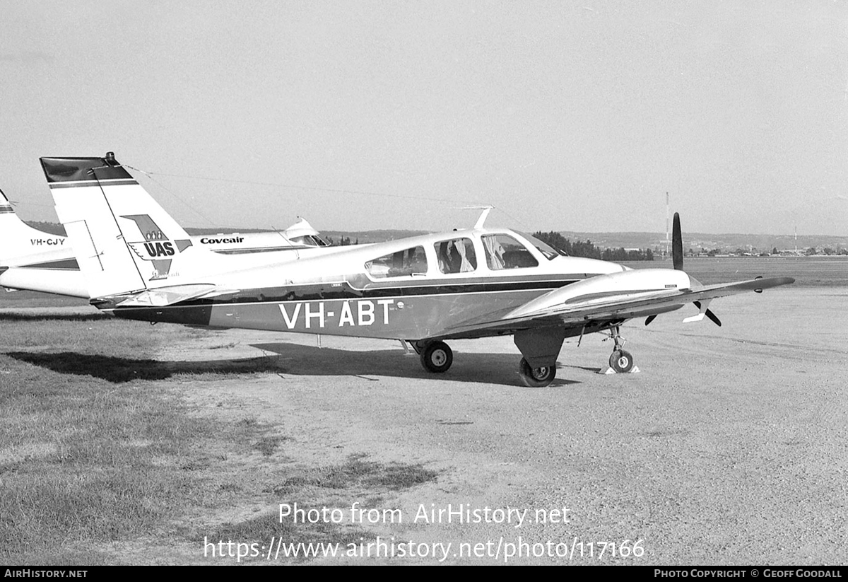
[[[629,322],[640,372],[598,373],[611,341],[595,334],[566,343],[544,389],[522,385],[509,338],[452,342],[443,375],[397,342],[249,330],[160,357],[273,359],[278,373],[175,385],[204,414],[279,427],[287,462],[440,471],[380,501],[394,523],[364,525],[394,546],[365,562],[845,564],[846,306],[845,288],[780,288],[717,300],[723,327],[682,323],[694,307]]]

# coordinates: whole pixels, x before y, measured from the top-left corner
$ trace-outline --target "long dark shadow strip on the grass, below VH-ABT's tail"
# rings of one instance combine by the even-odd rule
[[[67,351],[58,353],[16,351],[6,352],[4,355],[60,374],[92,376],[111,383],[165,380],[177,375],[284,372],[276,362],[276,358],[262,356],[246,360],[158,361]]]

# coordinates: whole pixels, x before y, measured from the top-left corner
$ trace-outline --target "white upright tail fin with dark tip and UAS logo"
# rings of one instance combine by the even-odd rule
[[[92,299],[198,283],[192,276],[212,254],[192,245],[113,153],[41,162]]]

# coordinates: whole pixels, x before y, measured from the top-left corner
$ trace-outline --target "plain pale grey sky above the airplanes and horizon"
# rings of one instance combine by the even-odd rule
[[[113,150],[190,227],[848,232],[844,2],[0,8],[25,219],[40,156]]]

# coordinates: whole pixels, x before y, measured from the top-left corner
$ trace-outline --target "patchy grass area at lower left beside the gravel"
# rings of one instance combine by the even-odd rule
[[[361,455],[293,463],[285,423],[222,423],[188,406],[188,380],[275,371],[274,361],[163,362],[163,345],[207,333],[97,313],[0,314],[0,562],[74,565],[199,561],[198,540],[368,539],[365,529],[298,529],[276,505],[379,500],[432,480],[417,465]],[[251,506],[247,515],[233,514]],[[227,558],[232,563],[231,558]],[[208,563],[208,560],[204,560]]]

